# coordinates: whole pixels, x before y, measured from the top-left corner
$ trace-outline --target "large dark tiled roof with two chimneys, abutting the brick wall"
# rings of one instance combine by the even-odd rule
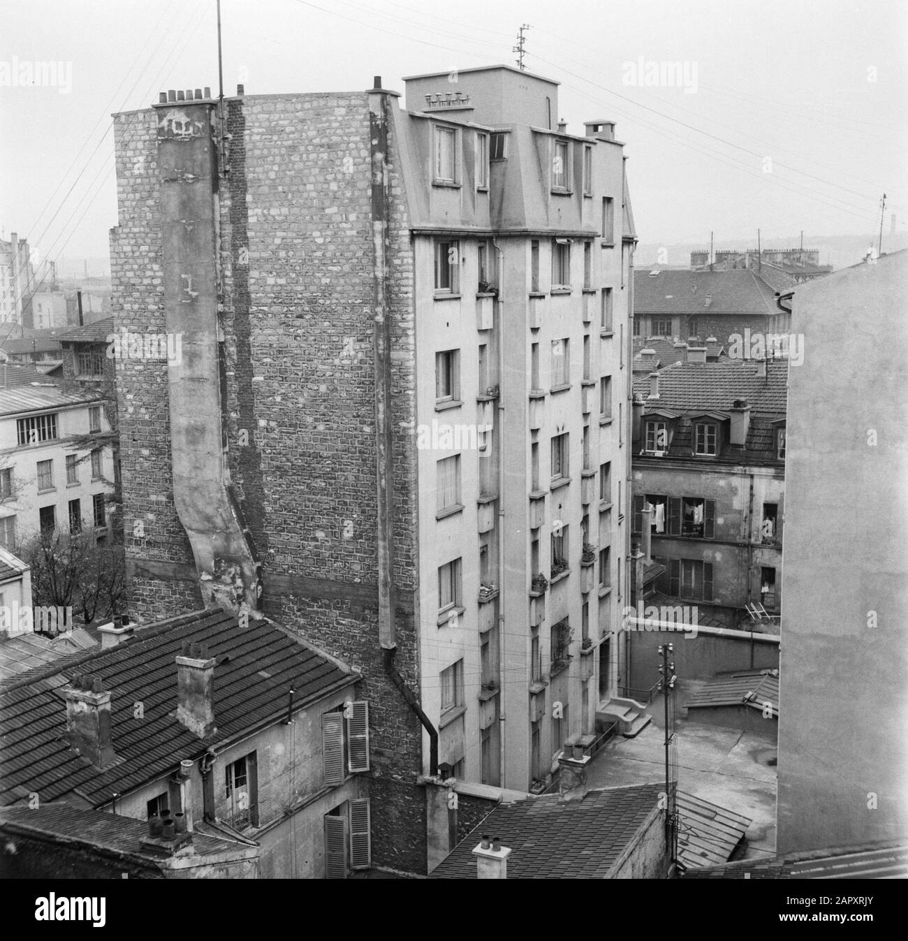
[[[177,668],[183,642],[206,644],[215,666],[215,733],[197,739],[176,720]],[[111,725],[119,760],[98,771],[76,755],[66,740],[62,688],[76,673],[104,680],[112,694]],[[311,646],[266,620],[241,629],[235,614],[202,611],[138,630],[119,646],[76,654],[0,682],[0,805],[30,791],[42,803],[75,789],[95,805],[114,792],[127,793],[205,748],[277,716],[295,690],[301,708],[358,674],[343,669]],[[144,706],[133,717],[136,701]]]

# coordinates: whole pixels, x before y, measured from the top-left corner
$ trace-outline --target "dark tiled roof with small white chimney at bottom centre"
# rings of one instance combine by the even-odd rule
[[[656,810],[663,786],[589,791],[560,804],[558,795],[498,805],[433,869],[430,879],[475,879],[473,848],[482,834],[512,851],[508,879],[607,879]]]

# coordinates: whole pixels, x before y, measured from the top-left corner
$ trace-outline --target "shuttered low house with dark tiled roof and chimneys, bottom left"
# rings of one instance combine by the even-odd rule
[[[104,859],[104,874],[132,878],[155,852],[183,875],[343,879],[372,865],[358,672],[221,611],[100,630],[110,646],[0,683],[0,805],[15,808],[0,811],[5,869],[91,876]],[[39,843],[52,852],[41,858]],[[256,865],[209,871],[217,853]]]

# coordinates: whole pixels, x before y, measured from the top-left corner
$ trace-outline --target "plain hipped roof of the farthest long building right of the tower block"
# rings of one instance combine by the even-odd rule
[[[659,274],[652,275],[651,271]],[[779,310],[775,290],[745,268],[733,271],[640,268],[634,271],[634,313],[776,314]]]

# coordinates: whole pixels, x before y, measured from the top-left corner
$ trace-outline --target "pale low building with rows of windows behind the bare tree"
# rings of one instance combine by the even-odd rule
[[[109,537],[109,432],[97,395],[47,381],[0,390],[0,545],[54,530]]]

